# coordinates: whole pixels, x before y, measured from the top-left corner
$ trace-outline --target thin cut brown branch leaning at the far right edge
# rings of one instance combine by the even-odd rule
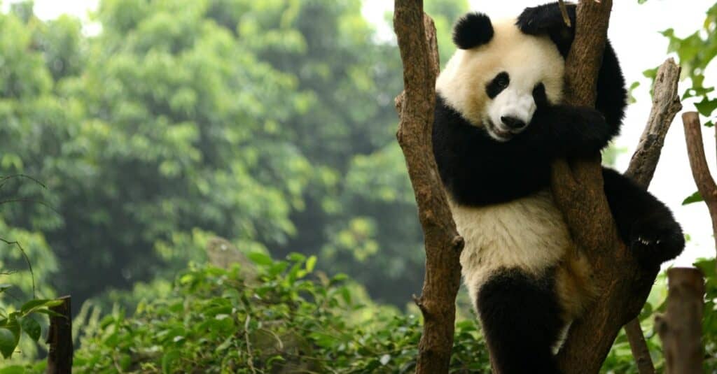
[[[707,167],[705,148],[702,143],[702,125],[698,112],[685,112],[682,115],[682,122],[685,126],[685,141],[687,142],[687,154],[690,158],[692,177],[697,185],[697,190],[707,204],[712,219],[712,231],[715,233],[715,249],[717,249],[717,185]]]

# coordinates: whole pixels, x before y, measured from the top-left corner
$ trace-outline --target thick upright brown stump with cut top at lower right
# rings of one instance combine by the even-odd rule
[[[666,374],[702,373],[702,315],[705,294],[700,269],[668,270],[668,301],[664,315],[655,317],[663,341]]]

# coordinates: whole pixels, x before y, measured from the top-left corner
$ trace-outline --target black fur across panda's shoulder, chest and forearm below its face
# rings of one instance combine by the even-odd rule
[[[498,143],[452,110],[439,94],[433,153],[452,198],[463,205],[485,206],[547,187],[552,160],[594,155],[618,130],[605,123],[597,110],[545,105],[538,106],[523,133]]]

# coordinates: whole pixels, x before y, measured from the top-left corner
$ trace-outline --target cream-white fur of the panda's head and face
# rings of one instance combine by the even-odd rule
[[[549,102],[561,100],[564,59],[549,37],[523,34],[516,19],[495,22],[493,30],[487,44],[453,54],[436,90],[473,125],[483,126],[489,119],[499,125],[503,115],[528,123],[535,112],[533,88],[538,83],[545,86]],[[500,72],[508,72],[511,82],[491,100],[485,87]]]

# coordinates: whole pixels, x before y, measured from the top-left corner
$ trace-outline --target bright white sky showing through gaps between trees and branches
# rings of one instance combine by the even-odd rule
[[[5,6],[13,2],[16,0],[6,1]],[[376,24],[383,21],[384,14],[393,6],[393,1],[389,0],[364,0],[364,2],[364,15]],[[482,11],[493,18],[516,16],[526,6],[535,6],[544,2],[548,0],[470,1],[473,10]],[[34,3],[35,12],[42,19],[52,19],[62,13],[74,14],[86,19],[87,11],[97,6],[97,0],[35,0]],[[669,27],[675,29],[676,34],[682,37],[693,32],[703,23],[704,12],[714,4],[714,0],[651,0],[642,5],[638,5],[637,0],[619,0],[614,1],[613,4],[609,39],[620,59],[628,85],[635,81],[642,83],[634,92],[637,103],[628,107],[622,135],[617,139],[618,146],[629,150],[617,161],[619,171],[624,171],[640,139],[651,107],[648,81],[642,77],[642,71],[656,67],[668,57],[665,54],[667,39],[658,32]],[[381,39],[392,37],[389,27],[382,27],[379,30],[383,34]],[[711,74],[711,70],[708,69],[707,76],[716,77],[717,72]],[[713,83],[706,82],[706,84]],[[688,87],[687,84],[682,83],[680,94],[685,87]],[[683,106],[685,110],[694,110],[690,102],[683,102]],[[703,138],[708,150],[708,163],[713,171],[717,171],[715,155],[709,151],[716,149],[713,130],[703,130],[706,131]],[[696,189],[690,173],[683,127],[678,114],[665,140],[663,155],[650,186],[650,191],[673,209],[685,232],[690,234],[691,240],[685,253],[675,261],[677,265],[689,265],[698,256],[715,254],[711,221],[706,206],[703,203],[681,205],[685,196]]]

